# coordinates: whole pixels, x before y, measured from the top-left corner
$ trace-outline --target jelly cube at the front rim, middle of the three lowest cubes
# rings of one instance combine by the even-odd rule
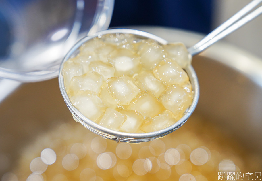
[[[119,131],[138,133],[141,125],[144,123],[144,117],[139,112],[133,110],[121,110],[119,112],[127,116]]]

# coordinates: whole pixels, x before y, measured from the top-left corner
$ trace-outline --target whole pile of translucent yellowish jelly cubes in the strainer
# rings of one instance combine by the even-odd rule
[[[182,43],[161,45],[127,33],[99,35],[63,65],[67,94],[88,119],[108,129],[147,133],[178,121],[192,104]]]

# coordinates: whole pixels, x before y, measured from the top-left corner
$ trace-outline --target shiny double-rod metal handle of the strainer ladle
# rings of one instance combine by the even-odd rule
[[[239,12],[237,12],[235,15],[233,15],[231,18],[229,18],[226,22],[224,22],[219,27],[217,27],[215,30],[213,30],[211,33],[209,33],[207,36],[205,36],[197,44],[188,48],[189,53],[192,56],[199,54],[200,52],[205,50],[207,47],[212,45],[213,43],[224,38],[228,34],[235,31],[236,29],[242,27],[247,22],[249,22],[249,21],[253,20],[254,18],[256,18],[257,16],[259,16],[262,13],[262,6],[260,6],[259,8],[254,10],[253,12],[249,13],[248,15],[246,15],[246,14],[248,12],[250,12],[259,3],[261,3],[261,1],[262,0],[251,1],[248,5],[246,5]],[[246,15],[246,16],[244,16],[244,15]],[[240,18],[242,18],[242,19],[240,19]]]

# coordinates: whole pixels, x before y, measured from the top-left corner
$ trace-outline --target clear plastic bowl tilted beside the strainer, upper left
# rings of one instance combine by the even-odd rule
[[[58,75],[82,37],[107,29],[113,0],[0,1],[0,77],[36,82]]]

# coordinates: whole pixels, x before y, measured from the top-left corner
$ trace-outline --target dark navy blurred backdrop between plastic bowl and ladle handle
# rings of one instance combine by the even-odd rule
[[[207,34],[212,0],[115,0],[110,27],[155,25]]]

